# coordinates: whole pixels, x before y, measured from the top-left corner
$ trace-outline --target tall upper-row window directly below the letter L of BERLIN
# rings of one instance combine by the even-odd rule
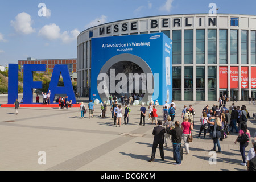
[[[184,64],[193,64],[193,30],[184,30]]]

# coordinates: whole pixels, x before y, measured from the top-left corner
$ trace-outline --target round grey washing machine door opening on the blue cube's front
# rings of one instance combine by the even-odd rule
[[[129,53],[114,56],[103,65],[100,75],[105,75],[105,82],[101,79],[97,81],[102,101],[107,101],[110,94],[118,98],[125,95],[130,97],[133,93],[143,94],[141,102],[144,103],[152,97],[152,91],[148,92],[147,88],[154,90],[153,73],[141,57]]]

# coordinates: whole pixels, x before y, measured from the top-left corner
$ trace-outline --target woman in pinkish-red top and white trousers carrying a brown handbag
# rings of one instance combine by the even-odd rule
[[[183,132],[182,138],[183,138],[184,145],[185,145],[185,150],[186,150],[185,154],[189,153],[188,138],[189,138],[189,135],[192,135],[191,130],[193,130],[193,125],[191,125],[191,122],[188,122],[188,119],[189,119],[188,116],[185,116],[184,121],[181,124],[181,129],[182,129],[182,132]]]

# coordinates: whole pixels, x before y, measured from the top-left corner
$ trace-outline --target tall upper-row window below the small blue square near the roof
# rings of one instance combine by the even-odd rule
[[[230,64],[238,64],[237,47],[237,30],[230,30]]]

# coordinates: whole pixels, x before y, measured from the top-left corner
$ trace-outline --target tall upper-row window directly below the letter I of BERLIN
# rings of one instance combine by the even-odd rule
[[[205,30],[196,30],[196,64],[205,63]]]

